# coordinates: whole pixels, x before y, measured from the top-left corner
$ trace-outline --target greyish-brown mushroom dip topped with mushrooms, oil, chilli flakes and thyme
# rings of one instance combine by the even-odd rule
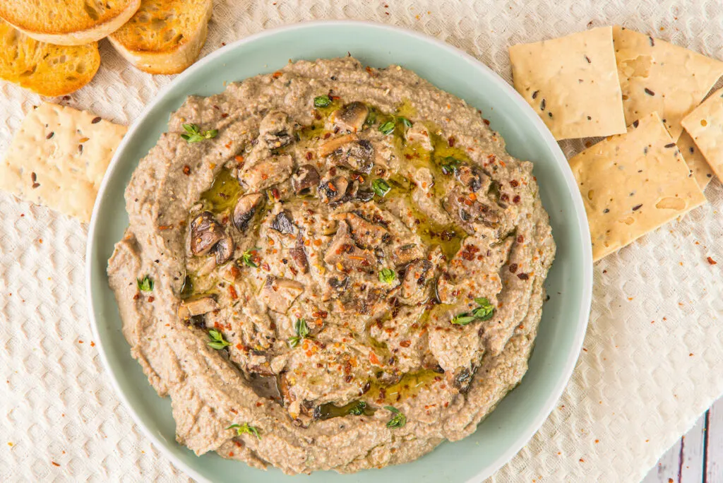
[[[532,165],[414,72],[298,61],[191,96],[126,204],[123,333],[199,455],[413,461],[526,372],[555,255]]]

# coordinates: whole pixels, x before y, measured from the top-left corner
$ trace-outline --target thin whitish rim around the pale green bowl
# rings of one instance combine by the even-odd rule
[[[304,21],[304,22],[297,22],[294,24],[289,25],[281,25],[279,27],[274,27],[268,30],[262,30],[258,33],[254,33],[252,35],[249,35],[244,38],[240,38],[239,40],[235,40],[232,43],[228,43],[226,46],[222,46],[221,48],[216,49],[215,51],[211,52],[207,56],[204,56],[202,59],[198,59],[194,64],[192,64],[190,67],[188,67],[184,72],[181,72],[177,77],[174,78],[174,80],[171,80],[171,82],[168,82],[168,85],[161,88],[161,90],[158,91],[158,93],[155,95],[152,101],[148,103],[145,108],[143,108],[143,111],[139,116],[137,116],[136,119],[132,122],[131,126],[129,127],[127,133],[121,140],[118,148],[116,148],[116,152],[114,153],[113,158],[111,159],[111,162],[108,164],[108,168],[106,170],[105,176],[103,176],[103,181],[100,183],[100,187],[98,189],[98,195],[95,200],[95,204],[93,205],[93,213],[90,218],[90,223],[88,225],[88,237],[87,237],[87,245],[85,250],[85,294],[86,294],[86,301],[87,301],[87,309],[88,309],[88,315],[90,317],[90,327],[93,332],[93,337],[96,341],[96,347],[98,349],[98,354],[100,355],[100,360],[103,363],[103,368],[106,370],[107,375],[109,376],[111,386],[114,389],[114,392],[116,396],[121,400],[123,403],[125,409],[129,411],[129,413],[132,416],[133,421],[135,424],[137,424],[142,434],[145,435],[155,446],[158,451],[160,451],[163,456],[166,456],[171,463],[173,463],[174,466],[181,469],[181,471],[184,471],[185,474],[188,476],[191,476],[193,479],[197,480],[198,482],[210,482],[210,480],[206,477],[200,474],[198,471],[193,469],[191,466],[187,465],[183,461],[181,461],[179,458],[176,458],[176,456],[166,448],[166,444],[161,441],[161,438],[157,437],[153,434],[153,432],[148,429],[145,424],[142,422],[142,418],[137,413],[137,411],[134,409],[134,406],[130,403],[128,400],[126,394],[121,389],[121,385],[116,378],[116,374],[114,370],[111,368],[111,364],[108,361],[108,355],[106,354],[106,349],[103,346],[103,341],[100,338],[100,334],[98,331],[98,321],[95,319],[95,310],[93,307],[93,247],[95,247],[95,232],[96,232],[96,224],[98,222],[98,207],[100,205],[99,200],[103,198],[103,195],[106,192],[106,188],[110,182],[110,179],[113,177],[111,176],[112,172],[116,170],[117,165],[120,162],[121,154],[124,152],[125,148],[131,141],[131,139],[136,134],[137,130],[140,127],[140,124],[142,124],[142,121],[150,114],[151,111],[153,111],[153,108],[155,108],[156,104],[160,103],[163,98],[168,95],[168,93],[171,93],[172,90],[176,87],[176,85],[179,85],[181,82],[183,82],[187,77],[192,76],[195,72],[202,70],[205,68],[207,64],[209,64],[214,59],[223,56],[229,51],[235,50],[237,48],[242,48],[247,43],[252,43],[255,40],[259,40],[262,38],[270,37],[273,35],[277,35],[281,32],[287,32],[292,30],[301,30],[301,29],[307,29],[307,28],[313,28],[317,26],[325,26],[325,25],[336,25],[336,26],[344,26],[344,25],[351,25],[351,26],[358,26],[358,27],[373,27],[373,28],[379,28],[382,30],[390,30],[395,33],[400,33],[403,35],[408,35],[413,38],[416,38],[417,40],[421,40],[423,42],[427,43],[434,43],[437,47],[442,48],[443,50],[447,51],[449,54],[460,56],[462,59],[469,61],[473,64],[476,64],[476,67],[482,69],[483,71],[487,71],[488,74],[491,74],[492,78],[495,78],[498,82],[500,82],[502,90],[507,91],[508,94],[510,94],[511,100],[518,105],[522,109],[522,111],[526,111],[527,116],[529,119],[531,119],[533,126],[537,129],[539,132],[539,135],[542,136],[542,139],[544,140],[545,144],[548,146],[550,151],[552,152],[552,155],[555,157],[557,163],[562,164],[562,166],[568,166],[567,158],[565,158],[565,155],[562,153],[562,150],[560,149],[560,145],[557,144],[557,141],[552,136],[552,133],[549,132],[549,129],[547,129],[547,126],[544,124],[542,119],[539,118],[539,116],[534,112],[534,110],[529,106],[529,104],[522,98],[522,96],[502,77],[500,77],[500,74],[497,74],[494,70],[492,70],[490,67],[488,67],[486,64],[484,64],[479,59],[476,59],[476,57],[472,56],[471,54],[468,54],[466,51],[461,50],[460,48],[456,48],[455,46],[450,45],[449,43],[443,42],[442,40],[438,40],[437,38],[434,38],[430,35],[419,33],[416,30],[410,30],[408,28],[403,27],[397,27],[395,25],[388,25],[381,22],[372,22],[368,20],[311,20],[311,21]],[[581,195],[578,191],[577,182],[575,181],[572,171],[568,167],[567,169],[562,169],[562,174],[565,178],[565,184],[567,185],[568,189],[571,192],[572,198],[573,198],[573,210],[576,213],[576,224],[582,231],[583,240],[587,239],[590,240],[590,231],[588,226],[587,217],[585,214],[585,209],[583,207],[583,201],[581,198]],[[565,367],[560,372],[560,375],[557,377],[557,382],[555,383],[554,390],[550,391],[550,393],[547,396],[547,399],[544,400],[544,403],[542,404],[540,410],[536,414],[534,420],[528,425],[526,429],[520,432],[518,437],[514,440],[512,444],[510,444],[508,450],[505,450],[498,456],[492,463],[487,465],[486,467],[480,469],[476,475],[468,480],[468,483],[474,482],[474,481],[482,481],[482,479],[487,478],[488,476],[491,476],[492,474],[495,474],[502,466],[504,466],[506,463],[508,463],[517,453],[520,452],[520,450],[529,443],[529,440],[536,434],[536,432],[542,427],[542,424],[545,422],[549,414],[552,413],[552,409],[555,407],[555,403],[560,399],[562,396],[563,391],[568,385],[568,382],[570,381],[570,377],[573,374],[573,370],[575,369],[579,354],[581,352],[581,348],[583,345],[583,341],[586,335],[587,327],[589,324],[589,315],[590,315],[590,308],[591,308],[591,301],[592,301],[592,246],[591,243],[585,244],[582,248],[582,258],[583,258],[583,266],[581,270],[581,278],[583,283],[583,289],[582,289],[582,297],[581,297],[581,304],[580,304],[580,310],[576,317],[576,320],[578,321],[584,321],[584,323],[579,323],[576,325],[576,333],[573,337],[573,350],[570,351],[570,354],[568,354],[567,359],[565,360]],[[414,462],[412,462],[414,463]]]

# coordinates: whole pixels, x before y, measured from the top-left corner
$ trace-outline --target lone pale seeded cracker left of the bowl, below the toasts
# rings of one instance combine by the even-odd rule
[[[126,127],[45,103],[25,116],[5,160],[0,189],[90,221],[95,195]]]

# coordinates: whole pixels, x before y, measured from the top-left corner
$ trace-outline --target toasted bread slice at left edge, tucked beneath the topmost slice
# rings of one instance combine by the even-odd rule
[[[0,79],[52,97],[80,89],[99,66],[98,42],[54,46],[0,20]]]

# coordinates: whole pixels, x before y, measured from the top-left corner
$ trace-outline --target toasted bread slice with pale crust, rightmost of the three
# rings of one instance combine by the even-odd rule
[[[178,74],[201,51],[212,11],[212,0],[142,0],[133,18],[108,39],[138,69]]]

